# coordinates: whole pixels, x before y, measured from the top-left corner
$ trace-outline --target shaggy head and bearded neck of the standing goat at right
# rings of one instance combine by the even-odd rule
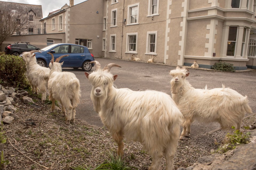
[[[178,66],[176,70],[171,70],[169,73],[172,76],[171,79],[171,93],[176,94],[183,86],[186,81],[186,77],[189,76],[188,69],[182,67],[182,69]]]

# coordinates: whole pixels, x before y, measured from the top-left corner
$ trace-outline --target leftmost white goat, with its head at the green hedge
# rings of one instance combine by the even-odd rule
[[[29,84],[32,86],[32,92],[38,94],[38,87],[39,92],[42,94],[42,103],[45,103],[50,69],[37,64],[37,59],[35,58],[35,54],[33,54],[35,52],[41,53],[36,50],[24,52],[22,53],[22,58],[26,62],[27,79],[29,80]]]

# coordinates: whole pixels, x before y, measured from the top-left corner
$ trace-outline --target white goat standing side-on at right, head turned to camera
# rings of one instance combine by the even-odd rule
[[[252,113],[247,96],[242,96],[230,88],[196,89],[186,80],[189,71],[185,67],[171,70],[171,95],[184,116],[180,140],[190,133],[190,124],[199,121],[219,122],[221,128],[231,133],[234,126],[241,128],[245,112]]]

